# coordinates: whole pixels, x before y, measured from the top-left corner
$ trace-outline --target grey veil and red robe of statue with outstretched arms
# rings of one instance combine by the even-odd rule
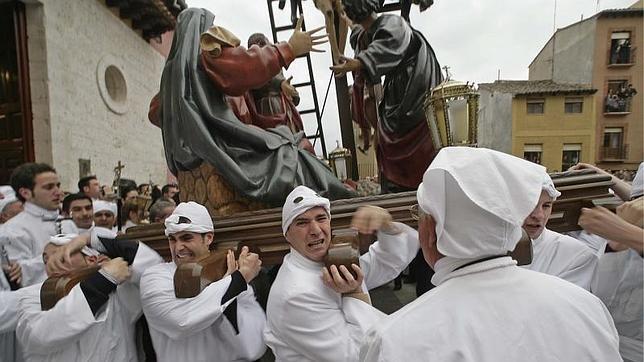
[[[200,51],[199,37],[214,18],[204,9],[179,15],[161,90],[151,105],[170,170],[177,174],[206,161],[242,196],[271,205],[300,184],[333,199],[350,197],[322,162],[298,148],[303,133],[245,125],[226,102],[226,95],[242,96],[288,66],[294,59],[288,44],[225,47],[212,56]]]

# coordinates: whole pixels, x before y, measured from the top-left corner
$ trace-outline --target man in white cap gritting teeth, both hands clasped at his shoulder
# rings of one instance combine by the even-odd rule
[[[228,273],[193,298],[177,298],[177,266],[208,255],[214,227],[208,210],[181,203],[165,220],[172,261],[150,268],[141,280],[141,301],[159,361],[254,361],[266,350],[266,316],[248,283],[261,268],[257,254],[244,247]],[[236,263],[238,267],[236,266]]]

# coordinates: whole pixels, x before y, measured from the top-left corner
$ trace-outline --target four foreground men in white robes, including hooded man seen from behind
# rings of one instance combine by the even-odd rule
[[[207,256],[216,242],[206,208],[181,203],[165,221],[168,263],[108,229],[50,238],[42,255],[48,276],[97,270],[49,310],[41,305],[42,283],[0,294],[9,309],[3,326],[15,328],[28,361],[137,360],[134,323],[142,313],[163,361],[252,361],[266,346],[278,361],[620,360],[617,330],[599,299],[508,256],[552,189],[539,165],[487,149],[444,148],[417,192],[418,231],[377,207],[354,214],[352,226],[378,240],[351,273],[322,263],[331,245],[329,200],[298,186],[282,207],[291,250],[266,312],[249,284],[261,260],[246,247],[237,259],[228,253],[224,277],[199,295],[176,296],[175,270]],[[437,287],[386,316],[368,291],[394,278],[418,248]]]

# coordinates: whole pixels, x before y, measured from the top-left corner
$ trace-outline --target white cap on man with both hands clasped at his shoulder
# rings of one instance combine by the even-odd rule
[[[165,236],[182,231],[199,234],[214,232],[215,227],[208,209],[194,201],[180,203],[172,215],[165,219]]]

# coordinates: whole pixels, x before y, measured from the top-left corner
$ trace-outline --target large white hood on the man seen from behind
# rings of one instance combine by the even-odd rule
[[[436,221],[438,251],[473,259],[514,250],[544,173],[543,166],[485,148],[441,149],[417,194]]]

